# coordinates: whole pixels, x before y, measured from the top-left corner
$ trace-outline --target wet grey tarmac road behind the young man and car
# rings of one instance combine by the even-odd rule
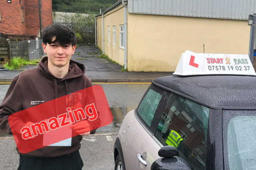
[[[127,112],[137,107],[150,84],[100,84],[105,92],[113,122],[97,129],[97,134],[83,136],[79,150],[84,163],[83,170],[113,170],[113,146],[117,132]],[[9,85],[0,85],[0,103]],[[112,134],[109,134],[112,133]],[[19,155],[12,136],[0,136],[0,170],[15,170],[19,166]]]

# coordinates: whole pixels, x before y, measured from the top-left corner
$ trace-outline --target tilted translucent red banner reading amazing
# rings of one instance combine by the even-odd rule
[[[109,125],[112,121],[113,116],[100,85],[25,109],[8,118],[17,149],[21,153],[84,134]],[[76,124],[84,128],[77,129]],[[45,142],[44,138],[49,134],[53,137]]]

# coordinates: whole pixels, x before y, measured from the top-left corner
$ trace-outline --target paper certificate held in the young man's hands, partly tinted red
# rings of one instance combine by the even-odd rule
[[[45,121],[48,122],[48,119]],[[67,118],[66,121],[69,121],[69,118]],[[72,129],[70,126],[50,130],[49,132],[45,132],[43,135],[43,146],[71,146]]]

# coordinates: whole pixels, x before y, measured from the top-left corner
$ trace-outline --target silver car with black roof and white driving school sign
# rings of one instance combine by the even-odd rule
[[[120,127],[115,170],[255,170],[256,74],[248,55],[228,57],[186,51],[173,75],[153,80]]]

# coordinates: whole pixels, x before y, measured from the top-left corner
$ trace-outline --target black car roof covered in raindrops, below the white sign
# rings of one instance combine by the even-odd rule
[[[254,76],[164,76],[156,78],[152,83],[208,107],[256,108],[256,77]]]

